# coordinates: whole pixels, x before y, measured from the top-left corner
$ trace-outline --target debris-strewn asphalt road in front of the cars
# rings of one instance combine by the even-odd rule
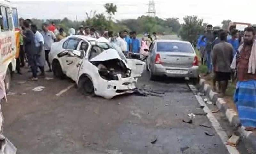
[[[132,94],[106,100],[84,96],[76,88],[55,96],[74,83],[68,79],[24,83],[27,77],[15,74],[13,93],[8,102],[1,103],[4,135],[19,154],[229,153],[214,128],[199,126],[212,127],[207,116],[196,115],[193,124],[182,122],[191,119],[189,113],[204,113],[196,109],[200,105],[185,80],[149,81],[144,72],[138,87],[165,92],[163,97]],[[45,88],[31,91],[36,86]],[[230,134],[223,115],[215,116]],[[205,135],[205,131],[214,136]],[[238,150],[251,153],[243,141]]]

